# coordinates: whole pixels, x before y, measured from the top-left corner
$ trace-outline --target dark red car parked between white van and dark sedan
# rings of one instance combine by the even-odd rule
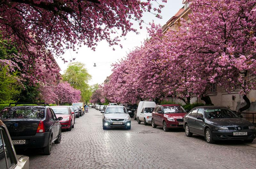
[[[183,128],[183,119],[187,114],[179,104],[157,105],[152,112],[151,124],[153,128],[163,126],[164,131],[170,128]]]

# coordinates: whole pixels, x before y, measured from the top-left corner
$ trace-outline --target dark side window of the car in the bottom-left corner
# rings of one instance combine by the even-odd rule
[[[7,165],[5,158],[7,159]],[[12,149],[4,130],[0,130],[0,164],[1,167],[6,166],[4,168],[11,168],[15,164]]]

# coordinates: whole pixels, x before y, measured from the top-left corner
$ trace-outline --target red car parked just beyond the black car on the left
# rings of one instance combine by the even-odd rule
[[[72,112],[69,106],[52,106],[57,117],[62,117],[60,121],[61,129],[71,131],[75,124],[75,112]]]

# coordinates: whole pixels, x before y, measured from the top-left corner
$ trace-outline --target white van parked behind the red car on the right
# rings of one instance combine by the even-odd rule
[[[152,112],[155,109],[155,107],[155,102],[141,101],[139,103],[136,114],[138,124],[140,124],[141,121],[144,122],[144,125],[151,123]]]

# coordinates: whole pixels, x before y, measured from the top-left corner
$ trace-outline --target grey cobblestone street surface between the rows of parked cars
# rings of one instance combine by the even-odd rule
[[[102,129],[102,114],[90,108],[62,132],[52,153],[26,152],[30,168],[255,168],[256,148],[243,141],[208,144],[184,130],[164,132],[138,124],[132,129]]]

